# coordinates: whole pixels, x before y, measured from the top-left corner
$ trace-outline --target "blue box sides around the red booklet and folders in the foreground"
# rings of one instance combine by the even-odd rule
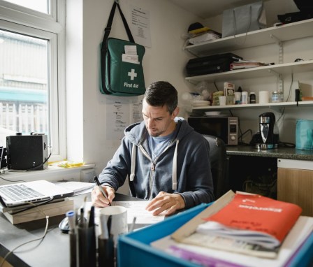
[[[147,226],[138,231],[133,231],[119,237],[117,247],[117,266],[119,267],[195,267],[197,264],[184,259],[173,257],[166,252],[150,246],[155,240],[170,235],[180,226],[198,215],[210,204],[201,204],[173,217],[168,217],[163,222]],[[312,266],[313,263],[313,233],[302,245],[295,257],[289,261],[291,266]]]

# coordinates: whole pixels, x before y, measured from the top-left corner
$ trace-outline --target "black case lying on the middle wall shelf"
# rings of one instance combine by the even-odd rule
[[[230,71],[231,63],[238,62],[239,59],[242,59],[242,57],[233,53],[189,59],[186,66],[186,72],[189,76],[197,76]]]

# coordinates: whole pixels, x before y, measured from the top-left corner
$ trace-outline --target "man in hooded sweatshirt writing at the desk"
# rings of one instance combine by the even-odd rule
[[[177,91],[169,82],[153,82],[143,99],[143,122],[125,129],[122,144],[99,175],[92,203],[105,207],[129,177],[131,196],[151,200],[153,215],[214,200],[209,145],[187,121],[176,117]]]

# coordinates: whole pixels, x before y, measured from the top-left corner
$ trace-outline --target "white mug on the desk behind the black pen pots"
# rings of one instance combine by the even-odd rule
[[[108,222],[108,217],[112,216],[110,233],[113,235],[114,243],[117,244],[119,235],[128,233],[127,225],[127,209],[125,207],[115,205],[110,207],[101,208],[101,215],[105,215],[105,220]]]

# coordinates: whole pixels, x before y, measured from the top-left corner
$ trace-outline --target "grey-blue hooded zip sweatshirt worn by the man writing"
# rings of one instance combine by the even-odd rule
[[[145,122],[125,129],[122,144],[99,175],[101,184],[115,189],[129,177],[131,196],[151,200],[159,192],[180,194],[185,208],[214,201],[209,144],[186,120],[177,127],[168,147],[152,161]]]

